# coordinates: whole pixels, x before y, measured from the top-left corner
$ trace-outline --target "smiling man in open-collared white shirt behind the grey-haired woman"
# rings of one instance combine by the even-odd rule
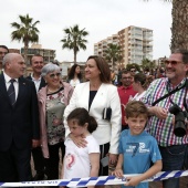
[[[33,73],[27,79],[34,82],[35,90],[39,92],[43,86],[45,86],[45,81],[41,77],[41,70],[44,65],[43,56],[40,54],[34,54],[31,59],[31,67]],[[34,161],[34,169],[36,174],[33,177],[33,180],[43,180],[44,179],[44,158],[42,155],[41,147],[36,147],[32,149],[32,156]]]

